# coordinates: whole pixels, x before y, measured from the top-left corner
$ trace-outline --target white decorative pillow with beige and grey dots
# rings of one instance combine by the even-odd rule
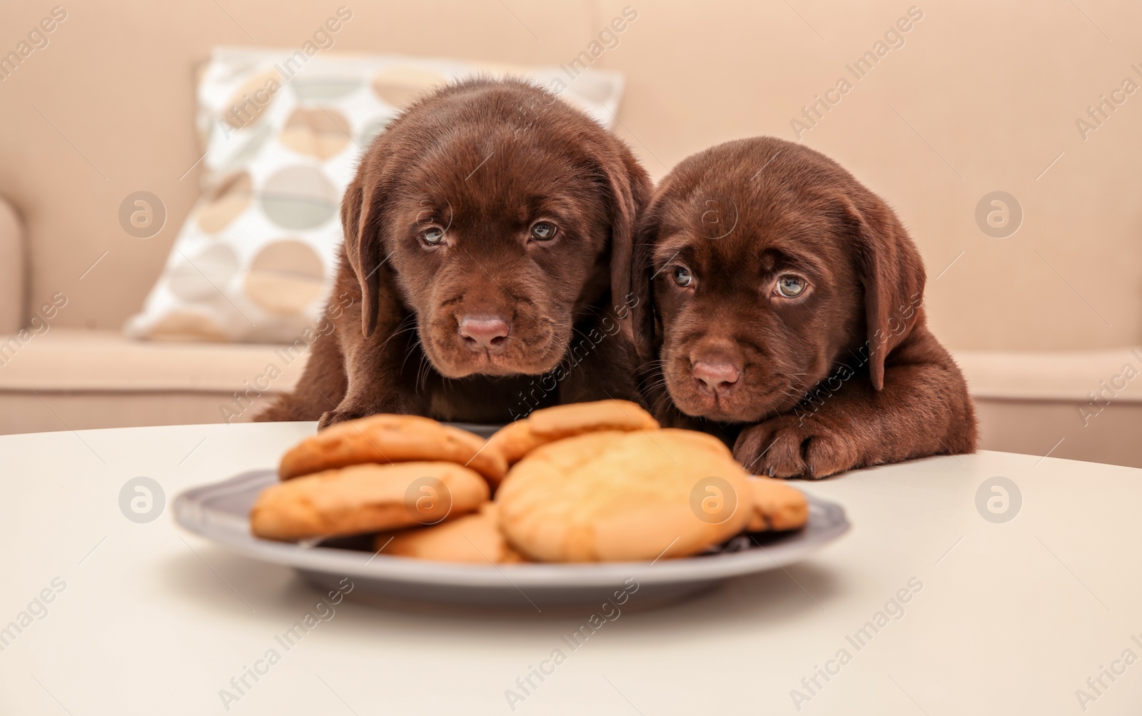
[[[459,78],[510,74],[610,127],[621,77],[577,70],[338,56],[312,43],[216,49],[199,83],[203,195],[127,335],[295,343],[325,307],[357,159],[404,104]]]

